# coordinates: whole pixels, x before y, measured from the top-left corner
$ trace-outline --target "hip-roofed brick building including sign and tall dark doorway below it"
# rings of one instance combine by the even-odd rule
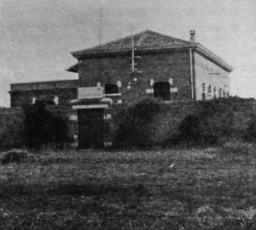
[[[204,100],[229,95],[232,67],[204,46],[150,30],[71,54],[78,63],[79,148],[111,144],[111,104],[141,98]]]

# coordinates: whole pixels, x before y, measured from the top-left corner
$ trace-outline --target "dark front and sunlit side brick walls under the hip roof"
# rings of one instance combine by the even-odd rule
[[[122,93],[124,103],[140,100],[143,97],[152,98],[153,93],[146,93],[146,89],[153,89],[150,79],[154,82],[168,82],[173,79],[172,88],[177,88],[176,100],[191,99],[191,64],[189,49],[176,51],[161,51],[154,53],[139,53],[135,51],[135,56],[141,56],[136,60],[138,71],[142,73],[131,74],[131,54],[120,54],[112,56],[90,57],[79,60],[79,81],[80,87],[96,86],[101,84],[117,84],[122,82],[119,92]],[[192,50],[192,72],[194,98],[202,99],[202,82],[205,82],[205,93],[208,95],[207,87],[226,89],[228,91],[228,72],[217,64]],[[216,75],[219,73],[219,75]],[[134,78],[137,80],[134,81]],[[131,89],[127,89],[127,87]],[[218,88],[217,88],[218,89]]]

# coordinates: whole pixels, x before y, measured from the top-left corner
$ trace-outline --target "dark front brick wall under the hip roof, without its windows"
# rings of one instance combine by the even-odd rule
[[[131,75],[129,73],[131,54],[92,57],[80,60],[79,81],[80,87],[96,86],[97,82],[102,84],[117,84],[121,81],[124,102],[139,100],[143,97],[153,98],[152,93],[146,89],[153,89],[150,79],[154,82],[173,79],[171,87],[178,88],[177,99],[191,98],[190,84],[190,58],[189,51],[172,51],[159,53],[136,53],[141,56],[138,59],[136,68],[142,73]],[[130,86],[131,89],[127,87]]]

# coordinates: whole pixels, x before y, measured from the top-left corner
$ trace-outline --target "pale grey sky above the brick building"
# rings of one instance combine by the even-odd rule
[[[256,98],[254,0],[0,0],[0,106],[11,83],[77,79],[72,51],[144,30],[200,43],[232,67],[231,94]]]

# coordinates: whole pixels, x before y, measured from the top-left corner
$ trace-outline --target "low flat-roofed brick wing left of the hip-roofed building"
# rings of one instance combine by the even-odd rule
[[[21,107],[24,103],[33,104],[36,100],[70,106],[70,101],[77,98],[77,87],[78,80],[11,84],[11,108]]]

